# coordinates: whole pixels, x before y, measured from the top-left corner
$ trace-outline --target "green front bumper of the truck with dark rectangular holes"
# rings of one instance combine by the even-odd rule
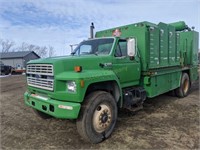
[[[77,119],[81,107],[80,103],[63,102],[50,98],[44,99],[28,92],[24,93],[24,101],[26,105],[34,109],[62,119]]]

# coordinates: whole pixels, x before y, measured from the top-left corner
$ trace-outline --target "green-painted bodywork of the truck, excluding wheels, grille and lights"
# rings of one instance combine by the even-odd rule
[[[120,37],[113,37],[116,29],[120,31]],[[182,71],[188,72],[191,81],[194,81],[198,78],[198,33],[185,29],[187,26],[184,22],[158,25],[140,22],[120,26],[96,33],[97,42],[104,39],[112,41],[100,45],[98,53],[89,54],[85,51],[88,50],[86,46],[82,48],[84,55],[32,60],[28,65],[53,65],[54,86],[53,91],[28,86],[24,94],[25,103],[57,118],[76,119],[90,85],[114,81],[119,88],[119,103],[122,106],[122,91],[125,88],[141,86],[148,97],[154,97],[179,87]],[[126,52],[119,57],[119,49],[126,50],[126,39],[131,37],[137,41],[134,59],[131,60]],[[106,49],[108,53],[104,53]],[[75,66],[81,66],[82,71],[75,72]],[[68,91],[69,81],[76,83],[76,92]],[[83,81],[84,85],[81,85]],[[47,97],[47,100],[31,94]],[[36,103],[35,106],[32,101]],[[46,111],[42,105],[47,107]],[[54,112],[49,110],[50,105],[55,107]],[[73,109],[59,108],[59,105]]]

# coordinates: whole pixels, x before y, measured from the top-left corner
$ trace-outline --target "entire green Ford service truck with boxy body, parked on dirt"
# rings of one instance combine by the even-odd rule
[[[42,118],[75,119],[86,141],[108,138],[118,109],[169,91],[185,97],[198,79],[198,32],[183,21],[91,31],[70,56],[28,62],[24,94]]]

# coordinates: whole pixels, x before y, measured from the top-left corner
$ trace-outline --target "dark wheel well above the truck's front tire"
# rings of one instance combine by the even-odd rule
[[[120,89],[116,81],[92,83],[89,85],[85,96],[98,90],[109,92],[114,97],[116,102],[120,101]]]

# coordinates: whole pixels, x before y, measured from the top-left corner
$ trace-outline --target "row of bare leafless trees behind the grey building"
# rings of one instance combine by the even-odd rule
[[[38,46],[34,44],[29,44],[26,42],[16,45],[14,41],[8,39],[0,39],[0,52],[19,52],[19,51],[34,51],[41,58],[53,57],[55,56],[55,50],[52,46]]]

